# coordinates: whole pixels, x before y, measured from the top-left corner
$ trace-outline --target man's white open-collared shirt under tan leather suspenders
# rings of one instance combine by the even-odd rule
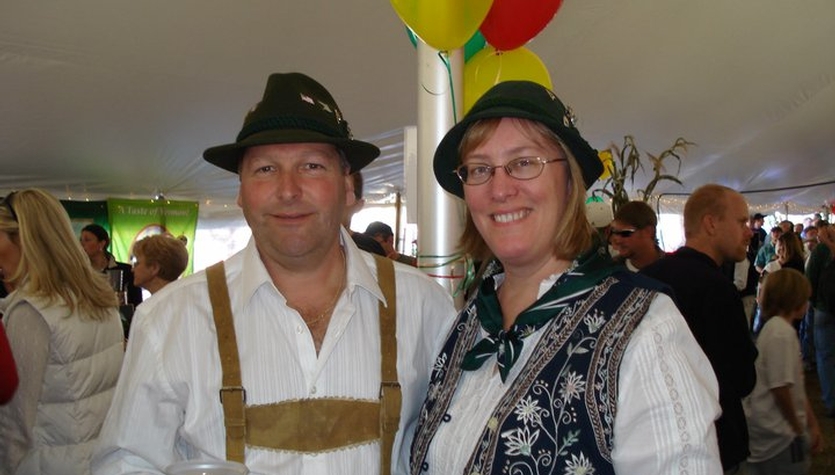
[[[373,257],[343,230],[347,287],[320,353],[273,285],[253,240],[225,263],[247,404],[340,397],[376,401],[380,337]],[[455,310],[421,271],[395,263],[397,373],[402,387],[393,473],[405,473],[429,371]],[[161,473],[183,459],[225,459],[220,361],[205,272],[169,284],[138,307],[122,377],[93,464],[97,475]],[[375,474],[377,441],[320,454],[247,446],[252,474]]]

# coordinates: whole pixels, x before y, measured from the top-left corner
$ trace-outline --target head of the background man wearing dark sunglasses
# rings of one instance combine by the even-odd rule
[[[643,201],[630,201],[618,209],[609,228],[609,243],[629,270],[638,270],[664,257],[655,229],[658,217]]]

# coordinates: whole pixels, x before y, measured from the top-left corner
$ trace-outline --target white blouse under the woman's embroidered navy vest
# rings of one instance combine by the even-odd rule
[[[557,277],[540,285],[540,297]],[[434,471],[423,473],[464,473],[488,418],[532,357],[544,328],[525,339],[506,383],[496,370],[495,358],[462,374],[447,411],[457,422],[438,426],[426,458]],[[486,335],[482,329],[482,337]],[[615,473],[721,474],[714,427],[719,414],[719,386],[710,362],[673,301],[659,294],[633,332],[620,365],[612,450]]]

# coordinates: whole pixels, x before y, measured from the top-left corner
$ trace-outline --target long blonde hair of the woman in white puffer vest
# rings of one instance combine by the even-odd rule
[[[6,276],[13,286],[93,320],[118,306],[105,275],[90,265],[64,207],[49,193],[27,189],[9,195],[0,207],[0,230],[16,236],[20,246],[20,263]]]

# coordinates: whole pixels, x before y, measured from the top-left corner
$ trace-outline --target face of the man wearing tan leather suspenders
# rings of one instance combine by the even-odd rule
[[[241,159],[240,179],[238,205],[262,259],[298,264],[339,245],[340,224],[354,196],[336,147],[250,147]]]

